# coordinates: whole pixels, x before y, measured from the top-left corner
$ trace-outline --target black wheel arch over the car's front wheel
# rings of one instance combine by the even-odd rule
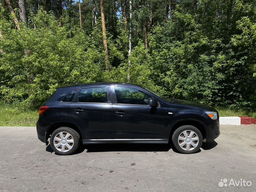
[[[179,128],[181,126],[185,126],[185,125],[190,125],[190,126],[196,127],[202,133],[203,139],[207,139],[206,128],[203,126],[202,122],[197,121],[195,119],[191,119],[191,120],[182,120],[182,121],[176,122],[171,128],[169,140],[177,128]]]

